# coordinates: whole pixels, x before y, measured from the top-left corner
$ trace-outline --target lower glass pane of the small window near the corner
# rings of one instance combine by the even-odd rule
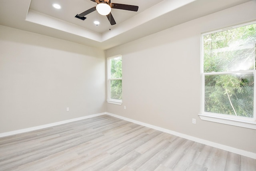
[[[122,99],[122,80],[110,80],[110,99]]]

